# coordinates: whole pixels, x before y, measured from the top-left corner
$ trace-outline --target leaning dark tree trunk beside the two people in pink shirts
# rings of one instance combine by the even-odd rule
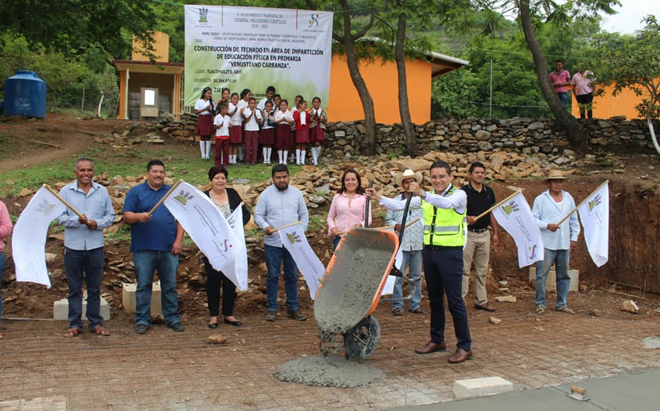
[[[545,56],[541,51],[541,46],[538,44],[536,34],[531,26],[529,0],[520,0],[520,25],[522,26],[522,33],[525,34],[527,47],[529,47],[529,51],[534,60],[536,78],[538,79],[538,85],[541,89],[543,98],[548,103],[550,111],[553,113],[560,126],[568,131],[571,146],[573,146],[575,150],[584,153],[586,151],[584,129],[580,126],[577,120],[575,120],[573,115],[569,114],[569,112],[562,107],[562,103],[560,102],[557,93],[555,93],[555,90],[550,84]]]

